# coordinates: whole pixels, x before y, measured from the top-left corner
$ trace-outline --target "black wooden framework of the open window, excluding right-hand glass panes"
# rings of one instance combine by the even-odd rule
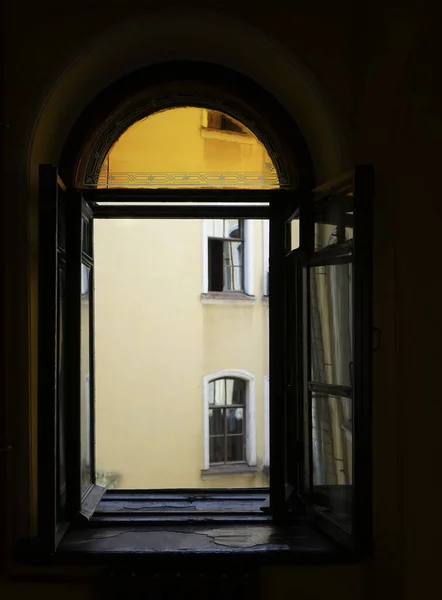
[[[350,183],[349,183],[350,182]],[[317,510],[311,490],[311,400],[308,376],[308,265],[315,261],[315,203],[333,198],[342,188],[355,195],[354,261],[355,359],[353,414],[356,443],[353,486],[353,530],[343,532]],[[91,469],[86,489],[81,475],[80,307],[81,264],[93,271],[93,221],[97,218],[235,218],[269,219],[269,381],[270,381],[270,487],[263,511],[276,523],[289,523],[308,514],[338,543],[353,551],[367,549],[371,539],[371,167],[359,167],[311,191],[272,190],[146,190],[67,189],[50,165],[40,167],[40,281],[39,281],[39,541],[54,551],[69,525],[82,526],[93,517],[100,501],[110,494],[96,485],[94,471],[93,335],[91,336]],[[180,205],[177,205],[177,201]],[[169,204],[170,203],[170,204]],[[219,203],[222,203],[220,205]],[[291,251],[290,221],[299,218],[299,249]],[[62,239],[63,238],[63,239]],[[63,244],[66,242],[66,248]],[[318,253],[316,253],[318,254]],[[59,277],[63,271],[65,277]],[[60,285],[60,282],[64,282]],[[57,294],[57,290],[61,290]],[[93,330],[93,284],[91,285]],[[61,296],[63,297],[61,299]],[[65,377],[57,374],[60,305],[66,306]],[[66,316],[67,315],[67,316]],[[61,322],[61,321],[60,321]],[[63,380],[63,385],[60,381]],[[62,387],[63,389],[60,389]],[[60,400],[61,397],[61,400]],[[60,411],[63,407],[63,411]],[[60,424],[60,414],[66,422]],[[63,436],[60,436],[60,432]],[[60,448],[60,438],[65,447]],[[67,452],[67,449],[69,450]],[[61,456],[66,457],[66,482],[60,481]],[[64,487],[65,484],[65,487]],[[60,510],[60,490],[65,502]],[[256,494],[256,489],[241,493]],[[162,491],[149,492],[152,496]],[[195,492],[195,490],[193,491]],[[200,493],[201,490],[198,490]],[[219,492],[219,490],[218,490]],[[189,490],[167,490],[186,495]],[[232,490],[224,490],[234,497]],[[130,503],[140,492],[125,492],[126,517],[137,523]],[[144,491],[144,495],[146,492]],[[121,494],[120,494],[121,495]],[[225,499],[225,498],[224,498]],[[178,513],[177,513],[178,514]],[[168,522],[171,512],[157,514]],[[206,516],[207,517],[207,516]],[[309,518],[310,518],[309,517]],[[219,518],[219,514],[218,514]]]

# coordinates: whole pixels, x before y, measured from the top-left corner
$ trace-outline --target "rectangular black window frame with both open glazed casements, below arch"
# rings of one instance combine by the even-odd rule
[[[357,167],[311,192],[235,190],[234,202],[253,196],[257,205],[230,206],[233,192],[222,189],[210,191],[208,206],[194,203],[204,194],[168,190],[164,206],[164,190],[82,193],[66,190],[54,167],[40,169],[39,537],[55,549],[105,492],[95,481],[93,217],[264,218],[270,490],[263,509],[281,522],[307,511],[339,544],[367,548],[372,169]],[[222,264],[220,249],[218,258]],[[136,500],[136,491],[128,494]]]

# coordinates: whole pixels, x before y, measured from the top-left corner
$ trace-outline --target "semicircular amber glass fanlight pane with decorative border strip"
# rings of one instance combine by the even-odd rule
[[[110,121],[91,151],[84,187],[279,187],[275,166],[259,139],[223,113],[215,119],[219,126],[209,128],[214,112],[180,107],[144,118],[140,114],[126,131]],[[106,138],[118,138],[108,150]]]

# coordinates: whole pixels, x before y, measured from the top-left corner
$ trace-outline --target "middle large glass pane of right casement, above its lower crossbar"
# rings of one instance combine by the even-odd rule
[[[352,265],[310,268],[311,379],[352,386]]]

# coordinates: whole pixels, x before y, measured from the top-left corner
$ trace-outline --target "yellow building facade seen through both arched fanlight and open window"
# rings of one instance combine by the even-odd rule
[[[130,127],[99,181],[244,185],[277,185],[265,147],[190,107]],[[94,255],[97,481],[267,486],[268,222],[97,220]]]

